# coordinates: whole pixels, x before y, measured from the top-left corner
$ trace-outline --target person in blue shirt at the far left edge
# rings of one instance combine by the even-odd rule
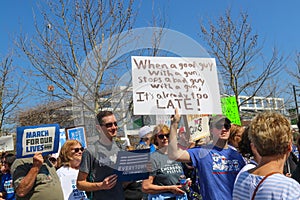
[[[10,167],[15,161],[16,156],[12,153],[8,153],[4,156],[2,164],[4,165],[4,174],[1,178],[0,192],[2,198],[6,200],[15,200],[15,191],[12,184],[12,176],[10,173]]]

